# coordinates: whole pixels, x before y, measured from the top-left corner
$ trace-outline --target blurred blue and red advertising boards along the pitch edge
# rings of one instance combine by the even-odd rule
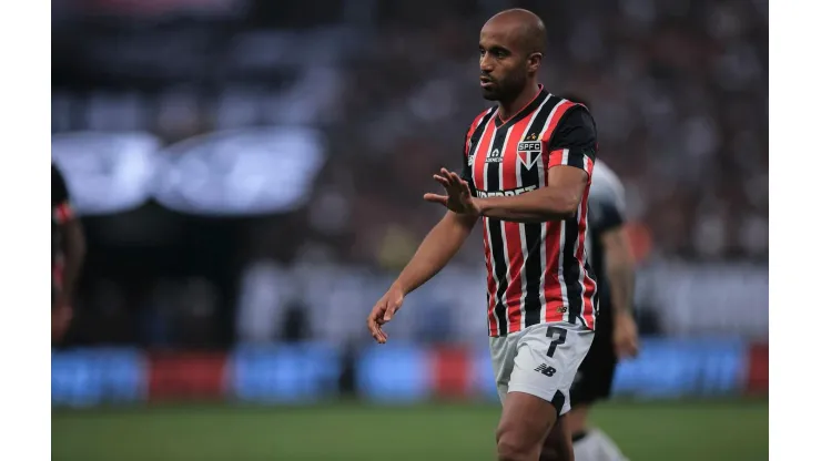
[[[641,356],[619,366],[616,396],[726,397],[768,391],[768,347],[728,339],[645,339]],[[242,347],[223,354],[149,354],[131,349],[54,352],[52,406],[227,400],[307,403],[352,392],[381,403],[429,398],[498,399],[487,350],[368,347],[352,363],[326,344]]]

